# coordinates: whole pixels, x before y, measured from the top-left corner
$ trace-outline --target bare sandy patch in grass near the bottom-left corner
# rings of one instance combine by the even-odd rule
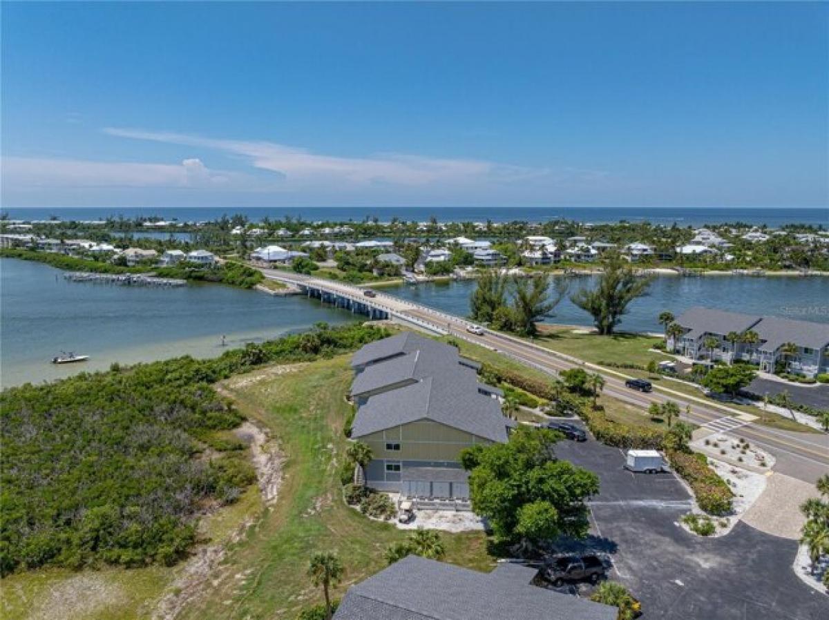
[[[124,598],[119,584],[105,579],[103,575],[90,572],[78,574],[70,579],[61,579],[48,593],[38,596],[30,620],[54,620],[68,618],[72,613],[95,615],[105,612],[115,602]]]

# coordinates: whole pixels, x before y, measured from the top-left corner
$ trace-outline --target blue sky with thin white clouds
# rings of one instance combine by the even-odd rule
[[[829,5],[2,3],[2,206],[826,206]]]

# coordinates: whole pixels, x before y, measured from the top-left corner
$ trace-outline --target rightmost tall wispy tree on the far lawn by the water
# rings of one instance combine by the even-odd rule
[[[618,256],[604,261],[595,288],[582,288],[570,296],[570,301],[589,312],[599,334],[609,336],[628,312],[628,304],[647,294],[652,277],[643,277]]]

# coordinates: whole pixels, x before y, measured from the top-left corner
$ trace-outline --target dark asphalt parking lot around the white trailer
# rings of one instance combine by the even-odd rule
[[[795,541],[742,522],[721,538],[692,535],[678,525],[691,496],[673,474],[628,472],[622,451],[593,438],[561,442],[556,453],[599,475],[591,541],[611,555],[610,579],[642,601],[645,618],[829,618],[829,597],[793,572]]]

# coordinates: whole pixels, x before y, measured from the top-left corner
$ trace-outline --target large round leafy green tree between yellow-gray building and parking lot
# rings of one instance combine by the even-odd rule
[[[559,439],[545,429],[520,427],[507,443],[461,453],[463,467],[471,472],[473,510],[487,518],[498,539],[533,544],[587,535],[584,501],[599,492],[599,477],[555,458]]]

